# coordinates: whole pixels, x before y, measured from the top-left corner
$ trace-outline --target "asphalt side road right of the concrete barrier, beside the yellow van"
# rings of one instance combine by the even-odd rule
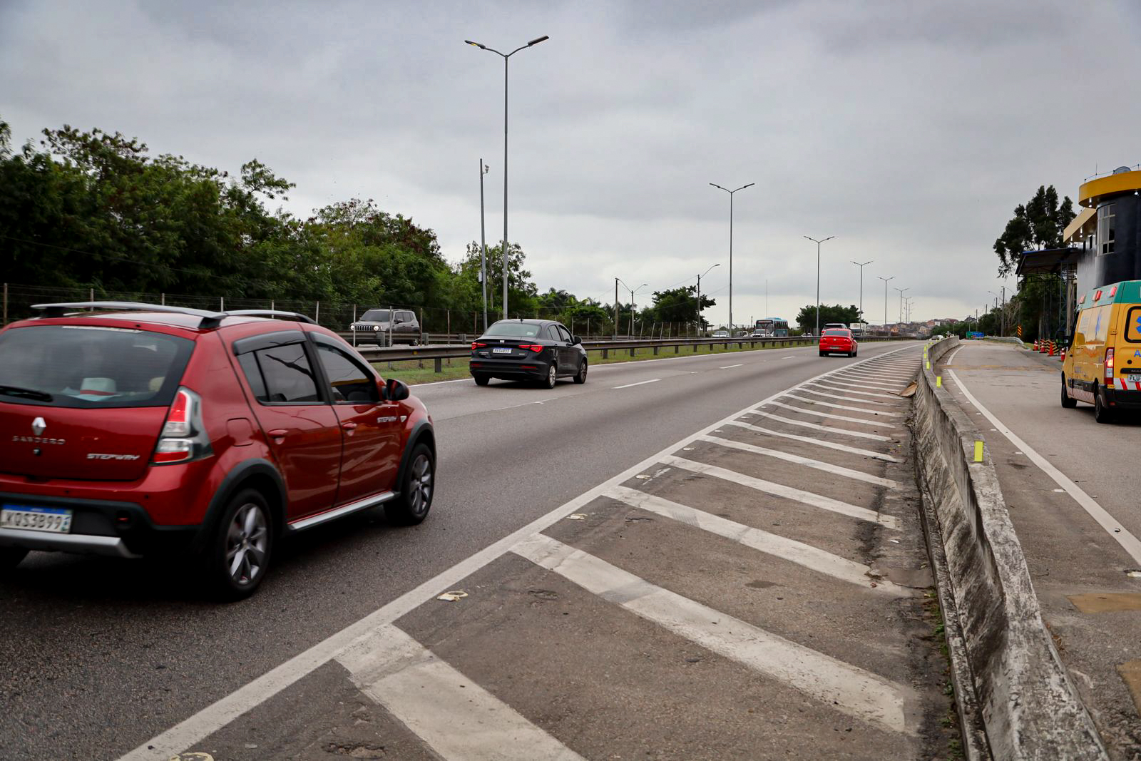
[[[986,437],[1070,680],[1112,758],[1141,758],[1141,415],[1063,410],[1057,357],[968,342],[948,359],[944,386]]]

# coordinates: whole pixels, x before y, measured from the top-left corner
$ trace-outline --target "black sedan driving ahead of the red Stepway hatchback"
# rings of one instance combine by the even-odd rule
[[[535,381],[555,388],[559,378],[586,382],[586,350],[577,335],[551,319],[501,319],[471,342],[471,377]]]

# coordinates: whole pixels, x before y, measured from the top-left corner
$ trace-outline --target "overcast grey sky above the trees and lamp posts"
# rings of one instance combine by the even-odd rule
[[[0,118],[16,141],[99,127],[236,170],[257,157],[308,214],[372,197],[459,260],[509,236],[540,289],[693,283],[734,318],[820,298],[883,319],[963,316],[1038,185],[1075,197],[1141,162],[1141,2],[54,2],[0,0]],[[766,283],[768,302],[766,302]],[[1013,281],[1006,282],[1008,286]],[[890,290],[895,321],[899,294]],[[628,297],[626,297],[628,298]],[[648,302],[646,297],[639,297]]]

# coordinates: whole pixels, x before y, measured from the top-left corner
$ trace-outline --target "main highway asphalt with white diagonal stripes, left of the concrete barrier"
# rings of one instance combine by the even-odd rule
[[[834,383],[783,394],[890,353]],[[946,742],[938,722],[948,706],[924,617],[930,580],[914,525],[907,405],[895,396],[917,356],[914,343],[865,343],[857,359],[807,348],[607,365],[585,386],[553,390],[419,386],[439,446],[429,519],[397,529],[362,518],[298,537],[280,548],[260,592],[235,605],[200,598],[177,559],[33,553],[0,581],[0,758],[169,758],[201,747],[216,758],[485,758],[447,746],[447,736],[470,731],[419,719],[479,724],[492,713],[507,735],[489,742],[545,748],[529,758],[754,758],[761,735],[806,756],[877,747],[925,758]],[[662,455],[681,439],[688,451]],[[639,473],[647,478],[606,486],[658,455],[659,465]],[[679,517],[710,494],[714,528],[705,511]],[[748,510],[769,504],[758,494],[812,510],[758,524]],[[581,520],[504,544],[580,495]],[[731,536],[731,547],[681,535],[697,524]],[[759,575],[758,544],[795,567]],[[480,562],[455,570],[480,552]],[[403,602],[448,569],[470,600],[443,609]],[[726,585],[742,574],[742,586],[771,599]],[[644,605],[663,597],[669,605]],[[361,633],[363,618],[394,605],[403,617],[369,630],[371,645],[291,665],[296,683],[267,691],[267,673],[319,653],[346,628]],[[614,605],[631,615],[615,616]],[[520,623],[536,609],[545,618]],[[736,634],[710,631],[711,615]],[[756,638],[786,648],[785,657],[754,651],[771,649]],[[683,691],[686,675],[661,661],[665,653],[679,667],[711,671],[691,699],[646,691]],[[393,665],[410,658],[418,669]],[[419,711],[411,696],[429,683],[434,703]],[[259,689],[272,699],[253,696]],[[470,689],[468,698],[448,703],[458,689]],[[755,707],[746,711],[734,690]],[[637,721],[596,721],[596,709],[623,706]],[[722,745],[698,731],[735,711],[717,735]],[[806,727],[827,736],[802,745]],[[155,737],[175,744],[148,748]],[[622,751],[612,747],[617,737]]]

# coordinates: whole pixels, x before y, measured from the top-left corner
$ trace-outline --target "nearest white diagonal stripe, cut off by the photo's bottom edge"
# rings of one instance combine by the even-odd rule
[[[370,632],[337,661],[353,683],[443,759],[582,761],[391,624]]]

